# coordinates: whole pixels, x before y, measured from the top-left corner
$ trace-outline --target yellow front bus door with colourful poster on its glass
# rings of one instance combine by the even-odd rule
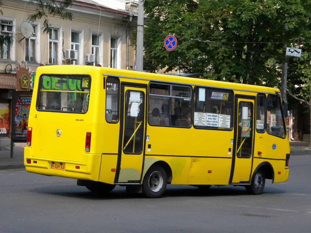
[[[230,183],[243,184],[250,180],[254,142],[254,103],[253,99],[235,98],[235,143]]]

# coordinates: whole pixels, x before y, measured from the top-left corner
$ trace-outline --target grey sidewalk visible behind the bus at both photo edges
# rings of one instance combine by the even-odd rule
[[[23,168],[24,166],[24,147],[26,143],[15,143],[13,148],[13,158],[10,158],[10,139],[0,140],[0,170]],[[290,142],[290,154],[310,154],[309,142]]]

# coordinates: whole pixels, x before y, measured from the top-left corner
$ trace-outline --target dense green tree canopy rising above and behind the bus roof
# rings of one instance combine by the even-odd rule
[[[278,85],[284,44],[310,41],[310,5],[310,0],[146,0],[146,68]],[[178,44],[168,51],[164,39],[174,33]]]

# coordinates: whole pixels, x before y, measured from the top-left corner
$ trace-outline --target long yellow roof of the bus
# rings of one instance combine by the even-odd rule
[[[57,67],[57,68],[56,68]],[[103,76],[116,76],[124,77],[136,80],[149,80],[155,82],[169,82],[174,84],[186,84],[186,85],[196,85],[196,86],[207,86],[215,88],[225,88],[232,90],[243,90],[251,92],[262,92],[262,93],[272,93],[280,92],[277,88],[241,84],[241,83],[231,83],[225,81],[216,81],[208,79],[199,79],[191,77],[183,77],[177,75],[164,75],[148,72],[139,71],[129,71],[121,70],[100,66],[82,66],[82,65],[55,65],[55,66],[39,66],[37,68],[38,74],[91,74],[91,73],[101,73]]]

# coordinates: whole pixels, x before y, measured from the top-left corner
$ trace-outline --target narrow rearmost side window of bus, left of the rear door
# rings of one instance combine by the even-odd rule
[[[106,121],[117,123],[119,121],[119,80],[114,77],[106,79]]]

